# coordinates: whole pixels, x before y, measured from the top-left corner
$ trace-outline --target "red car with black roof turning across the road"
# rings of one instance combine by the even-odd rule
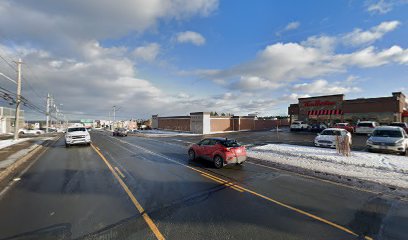
[[[237,141],[227,138],[205,138],[188,149],[190,160],[203,158],[212,161],[216,168],[227,164],[242,164],[247,159],[246,149]]]

